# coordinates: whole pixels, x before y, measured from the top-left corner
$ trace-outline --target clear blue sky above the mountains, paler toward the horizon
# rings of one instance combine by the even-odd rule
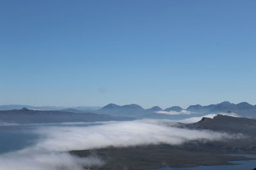
[[[0,104],[256,104],[256,1],[0,2]]]

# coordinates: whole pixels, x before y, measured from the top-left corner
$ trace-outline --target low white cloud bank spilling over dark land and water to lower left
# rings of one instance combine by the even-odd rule
[[[208,115],[214,117],[214,115]],[[200,118],[183,120],[193,122]],[[134,120],[129,122],[104,122],[102,125],[40,126],[35,129],[42,138],[34,146],[0,155],[0,170],[82,170],[83,167],[102,166],[97,157],[79,158],[66,151],[105,148],[108,146],[134,146],[200,141],[221,141],[240,138],[213,131],[198,131],[172,127],[172,120]]]

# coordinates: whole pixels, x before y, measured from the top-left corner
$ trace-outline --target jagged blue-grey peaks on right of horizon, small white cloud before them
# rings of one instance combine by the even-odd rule
[[[209,113],[226,113],[226,112],[238,113],[242,117],[256,118],[256,105],[252,105],[246,102],[243,103],[230,103],[224,101],[218,104],[210,104],[202,106],[200,104],[191,105],[188,108],[180,108],[179,106],[172,106],[170,108],[162,109],[159,106],[154,106],[149,109],[144,109],[138,104],[127,104],[119,106],[117,104],[108,104],[100,110],[95,110],[93,113],[101,113],[108,115],[119,115],[126,117],[136,118],[183,118],[191,117],[191,115],[204,115]]]

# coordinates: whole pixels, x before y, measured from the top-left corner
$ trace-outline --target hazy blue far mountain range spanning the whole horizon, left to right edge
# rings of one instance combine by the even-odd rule
[[[102,108],[95,106],[79,106],[79,107],[56,107],[56,106],[25,106],[25,105],[2,105],[0,110],[21,109],[22,107],[31,110],[59,110],[70,113],[96,113],[111,115],[115,117],[134,117],[134,118],[164,118],[164,119],[180,119],[195,116],[202,116],[210,113],[226,113],[233,112],[239,114],[241,117],[256,118],[256,105],[246,102],[234,104],[224,101],[218,104],[210,104],[202,106],[200,104],[191,105],[184,109],[179,106],[172,106],[170,108],[162,109],[159,106],[144,109],[138,104],[126,104],[119,106],[117,104],[108,104]]]

